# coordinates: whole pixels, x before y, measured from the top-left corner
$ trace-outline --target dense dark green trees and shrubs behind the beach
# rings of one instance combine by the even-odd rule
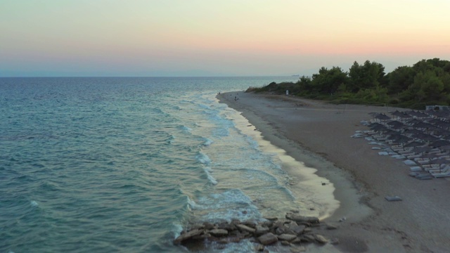
[[[274,93],[286,90],[291,95],[332,103],[387,104],[423,110],[425,105],[450,105],[450,61],[420,60],[387,74],[381,63],[355,61],[348,72],[340,67],[321,67],[319,73],[302,76],[297,82],[272,82],[262,88],[249,88]]]

